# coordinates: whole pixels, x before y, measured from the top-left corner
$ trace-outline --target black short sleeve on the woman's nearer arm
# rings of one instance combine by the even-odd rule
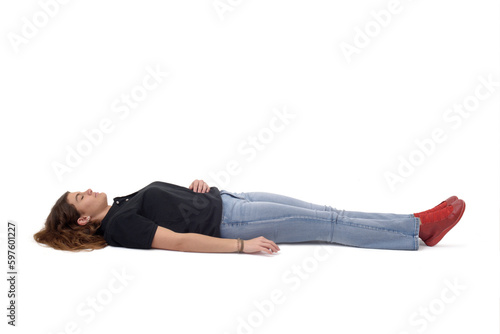
[[[158,225],[136,213],[113,217],[104,235],[111,246],[150,249]]]

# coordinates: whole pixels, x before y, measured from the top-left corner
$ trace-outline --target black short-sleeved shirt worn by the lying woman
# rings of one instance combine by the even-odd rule
[[[110,246],[149,249],[158,226],[179,233],[220,237],[222,199],[165,182],[153,182],[128,196],[116,197],[98,234]]]

